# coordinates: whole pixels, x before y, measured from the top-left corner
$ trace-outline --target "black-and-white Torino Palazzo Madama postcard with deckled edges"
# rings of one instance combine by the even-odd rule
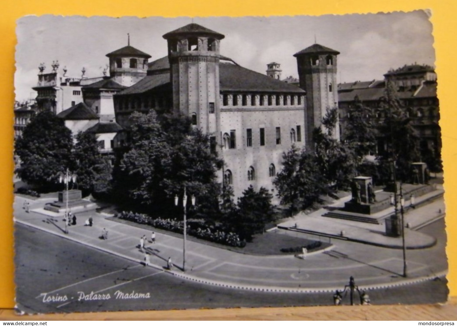
[[[18,313],[446,302],[430,16],[19,19]]]

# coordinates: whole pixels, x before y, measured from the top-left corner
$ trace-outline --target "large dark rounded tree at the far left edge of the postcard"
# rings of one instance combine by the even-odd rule
[[[56,188],[58,175],[72,168],[73,139],[64,120],[50,111],[38,113],[16,140],[15,154],[21,159],[19,177],[35,186]]]

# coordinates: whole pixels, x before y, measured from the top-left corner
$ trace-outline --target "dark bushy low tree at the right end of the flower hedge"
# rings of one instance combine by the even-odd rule
[[[252,185],[243,191],[238,198],[238,215],[234,222],[234,229],[247,241],[255,233],[264,231],[267,223],[275,220],[274,206],[271,205],[273,196],[267,189],[261,187],[257,192]]]

